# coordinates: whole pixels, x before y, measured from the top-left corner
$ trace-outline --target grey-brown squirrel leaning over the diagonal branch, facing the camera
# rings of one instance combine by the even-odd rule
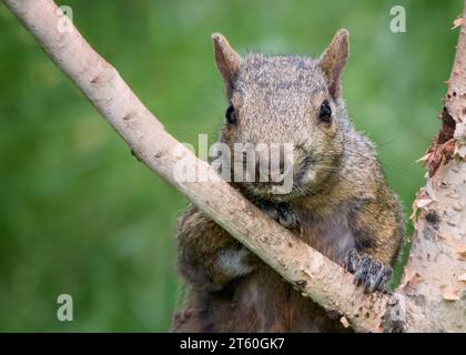
[[[386,292],[404,236],[403,209],[373,143],[356,132],[342,99],[348,32],[318,59],[241,58],[213,34],[229,105],[221,141],[294,146],[293,190],[232,182],[245,197],[334,262],[365,292]],[[338,332],[338,317],[304,297],[270,266],[190,205],[179,221],[178,268],[186,283],[174,332]]]

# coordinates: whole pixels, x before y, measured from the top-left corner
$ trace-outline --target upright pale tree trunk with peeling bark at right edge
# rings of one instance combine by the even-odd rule
[[[435,158],[440,164],[428,165],[427,186],[415,201],[422,212],[399,287],[402,294],[418,305],[417,315],[425,318],[424,327],[413,329],[466,332],[465,22],[465,14],[455,21],[460,33],[442,115],[440,142],[446,142],[434,144],[427,156],[427,163]]]

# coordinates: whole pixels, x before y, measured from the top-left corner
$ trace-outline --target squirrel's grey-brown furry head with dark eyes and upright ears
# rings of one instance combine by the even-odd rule
[[[348,32],[337,31],[318,59],[261,53],[241,58],[222,34],[212,39],[229,100],[221,141],[233,154],[239,154],[235,143],[278,144],[278,163],[273,163],[270,151],[270,178],[274,169],[284,176],[290,173],[286,166],[292,168],[292,190],[276,193],[280,182],[260,181],[256,154],[255,181],[243,179],[237,185],[253,196],[277,202],[315,194],[336,172],[343,152],[347,120],[341,77],[350,52]],[[285,144],[292,150],[285,151]]]

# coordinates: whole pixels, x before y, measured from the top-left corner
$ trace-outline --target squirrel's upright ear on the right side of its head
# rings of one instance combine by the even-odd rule
[[[337,98],[341,92],[341,77],[346,59],[350,55],[348,37],[347,30],[338,30],[320,59],[321,68],[327,77],[330,92],[333,98]]]

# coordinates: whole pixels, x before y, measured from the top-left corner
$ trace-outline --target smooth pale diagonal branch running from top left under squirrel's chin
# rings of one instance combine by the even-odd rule
[[[381,293],[365,295],[362,287],[353,284],[353,275],[269,219],[180,144],[73,26],[70,31],[58,30],[63,14],[52,0],[3,2],[149,169],[188,196],[303,295],[326,310],[337,310],[356,331],[382,331],[384,315],[399,308],[407,312],[409,318],[402,322],[403,329],[423,328],[424,318],[412,315],[419,312],[419,307],[405,292],[406,287],[393,300]],[[464,28],[462,43],[463,32]],[[464,59],[464,54],[457,55],[460,55],[458,61]],[[195,161],[199,175],[212,179],[204,183],[176,181],[174,166],[180,159],[186,158]],[[417,265],[413,270],[417,270],[415,267]],[[396,326],[389,324],[388,329],[393,328]]]

